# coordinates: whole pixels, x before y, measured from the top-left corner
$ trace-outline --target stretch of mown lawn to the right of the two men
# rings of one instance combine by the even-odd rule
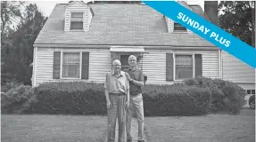
[[[149,142],[254,142],[255,111],[239,115],[210,114],[194,117],[147,117]]]

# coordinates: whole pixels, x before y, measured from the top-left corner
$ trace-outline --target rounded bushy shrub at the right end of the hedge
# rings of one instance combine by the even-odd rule
[[[211,111],[239,113],[246,103],[244,89],[236,83],[221,79],[196,77],[184,81],[186,85],[197,86],[211,91]]]

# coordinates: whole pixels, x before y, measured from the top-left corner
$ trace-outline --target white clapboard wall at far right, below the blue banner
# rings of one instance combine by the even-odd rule
[[[255,69],[240,59],[221,51],[222,77],[235,83],[255,83]]]

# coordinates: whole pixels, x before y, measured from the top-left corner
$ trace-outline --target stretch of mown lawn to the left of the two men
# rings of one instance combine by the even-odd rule
[[[2,142],[103,142],[107,119],[102,116],[2,114]]]

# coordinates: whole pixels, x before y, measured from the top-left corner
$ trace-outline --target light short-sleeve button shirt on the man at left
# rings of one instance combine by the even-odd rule
[[[125,94],[128,94],[128,78],[123,71],[120,71],[119,76],[114,75],[114,72],[111,71],[111,73],[106,75],[104,88],[107,89],[109,93],[124,92]]]

